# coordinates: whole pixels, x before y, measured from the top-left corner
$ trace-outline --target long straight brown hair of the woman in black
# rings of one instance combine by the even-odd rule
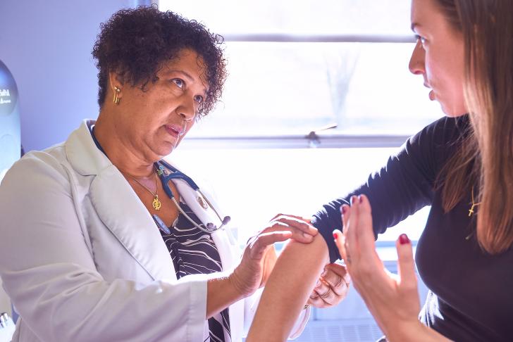
[[[436,0],[465,46],[471,125],[439,178],[445,211],[476,185],[477,240],[488,253],[513,245],[513,1]]]

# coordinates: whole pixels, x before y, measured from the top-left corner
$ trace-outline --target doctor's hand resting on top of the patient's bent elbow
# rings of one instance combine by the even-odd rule
[[[250,296],[266,284],[273,270],[277,259],[273,243],[288,239],[310,243],[317,233],[317,229],[302,217],[276,215],[268,227],[249,239],[230,280],[243,296]]]

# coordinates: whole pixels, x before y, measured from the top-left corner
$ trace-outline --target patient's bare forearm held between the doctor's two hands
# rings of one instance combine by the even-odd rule
[[[311,243],[290,241],[267,281],[246,341],[285,341],[326,263],[321,235]]]

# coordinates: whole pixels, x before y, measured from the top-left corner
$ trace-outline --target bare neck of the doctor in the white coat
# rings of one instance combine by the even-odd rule
[[[154,177],[153,163],[156,160],[145,158],[130,139],[123,139],[123,134],[118,134],[113,120],[109,120],[109,115],[103,111],[94,125],[94,136],[111,163],[123,174],[135,178]]]

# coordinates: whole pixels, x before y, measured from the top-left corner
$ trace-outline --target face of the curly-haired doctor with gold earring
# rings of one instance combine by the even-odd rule
[[[206,97],[204,63],[197,53],[183,49],[161,65],[158,80],[125,87],[123,122],[119,126],[130,144],[149,160],[167,156],[194,125]]]

